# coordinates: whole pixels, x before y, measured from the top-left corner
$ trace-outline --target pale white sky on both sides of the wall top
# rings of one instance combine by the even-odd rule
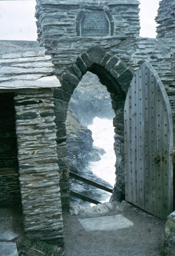
[[[140,36],[156,37],[159,0],[140,1]],[[0,40],[37,40],[35,0],[0,0]]]

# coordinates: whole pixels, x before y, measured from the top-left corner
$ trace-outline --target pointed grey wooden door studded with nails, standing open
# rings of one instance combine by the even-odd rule
[[[166,219],[173,211],[173,125],[165,88],[149,63],[130,84],[124,122],[126,200]]]

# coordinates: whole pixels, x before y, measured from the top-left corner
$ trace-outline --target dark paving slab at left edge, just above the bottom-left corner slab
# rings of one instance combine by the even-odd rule
[[[13,230],[12,212],[8,209],[0,209],[0,241],[12,241],[18,237]],[[0,251],[1,252],[1,251]],[[1,256],[1,254],[0,254]]]

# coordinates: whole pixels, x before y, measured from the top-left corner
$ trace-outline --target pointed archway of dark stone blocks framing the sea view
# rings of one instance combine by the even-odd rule
[[[87,71],[96,74],[100,82],[110,92],[112,108],[115,112],[114,150],[117,159],[116,184],[111,200],[121,201],[124,198],[124,102],[133,73],[117,56],[106,52],[100,46],[93,46],[87,52],[83,52],[81,56],[78,56],[75,62],[63,72],[59,78],[61,87],[56,88],[54,91],[57,156],[61,177],[60,188],[63,208],[69,208],[69,172],[67,167],[65,120],[71,95]]]

